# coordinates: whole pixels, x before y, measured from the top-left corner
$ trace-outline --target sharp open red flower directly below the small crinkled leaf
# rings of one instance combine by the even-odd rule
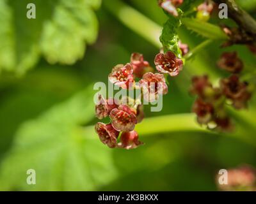
[[[183,62],[177,58],[173,52],[166,52],[165,54],[157,54],[155,58],[156,69],[160,73],[168,73],[171,77],[179,75],[182,70]]]

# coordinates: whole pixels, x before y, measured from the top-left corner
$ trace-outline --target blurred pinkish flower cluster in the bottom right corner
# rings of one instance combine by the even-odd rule
[[[248,165],[227,170],[227,180],[220,184],[218,175],[216,180],[221,191],[255,191],[256,174],[255,170]]]

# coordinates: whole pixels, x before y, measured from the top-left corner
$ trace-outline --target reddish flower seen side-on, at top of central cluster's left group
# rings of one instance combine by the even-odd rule
[[[131,64],[136,77],[141,78],[145,73],[152,71],[152,67],[147,61],[144,61],[144,57],[140,53],[132,53]]]

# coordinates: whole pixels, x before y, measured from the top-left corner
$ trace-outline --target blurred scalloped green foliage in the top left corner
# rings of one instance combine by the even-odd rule
[[[28,19],[28,3],[36,5],[36,19]],[[40,55],[48,62],[73,64],[96,40],[98,23],[93,9],[100,0],[24,0],[0,3],[0,71],[22,74]],[[3,23],[2,23],[3,22]]]

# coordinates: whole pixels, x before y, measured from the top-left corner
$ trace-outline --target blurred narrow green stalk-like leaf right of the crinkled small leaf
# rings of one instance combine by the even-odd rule
[[[182,18],[182,24],[205,38],[212,40],[228,40],[228,36],[217,25],[202,22],[195,18]]]

